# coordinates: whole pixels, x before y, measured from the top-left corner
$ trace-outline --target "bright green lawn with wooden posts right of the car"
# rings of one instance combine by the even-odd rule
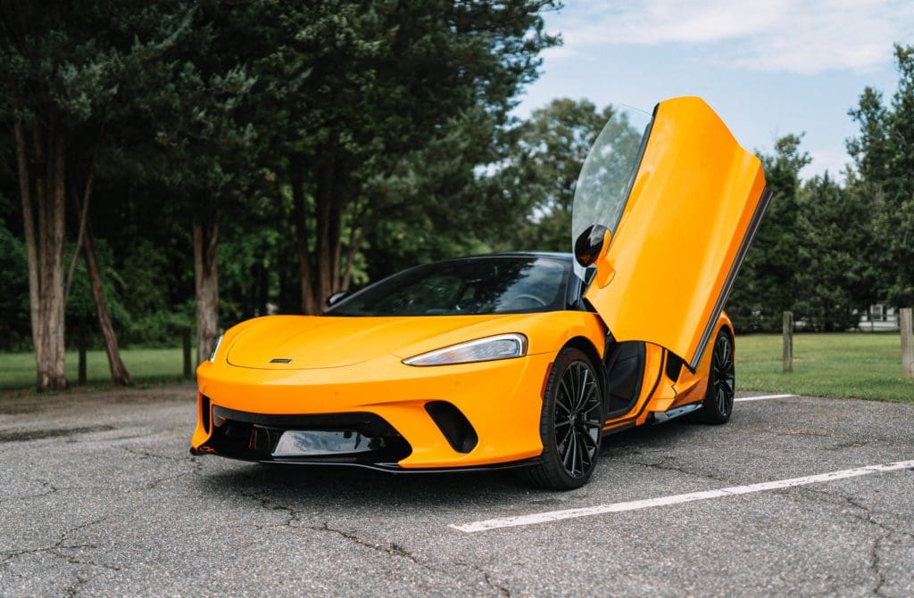
[[[739,390],[914,403],[898,334],[795,334],[793,372],[782,371],[781,351],[781,335],[737,337]]]

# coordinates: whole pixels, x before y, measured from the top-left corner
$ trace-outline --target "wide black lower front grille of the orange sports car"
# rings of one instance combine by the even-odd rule
[[[396,464],[412,448],[376,414],[251,414],[212,406],[213,434],[204,446],[251,461]],[[285,439],[283,439],[285,438]]]

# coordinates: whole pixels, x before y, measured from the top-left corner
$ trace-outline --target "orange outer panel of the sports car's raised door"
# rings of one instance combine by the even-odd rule
[[[658,344],[695,368],[754,233],[761,163],[703,100],[677,98],[658,105],[633,181],[585,296],[617,340]]]

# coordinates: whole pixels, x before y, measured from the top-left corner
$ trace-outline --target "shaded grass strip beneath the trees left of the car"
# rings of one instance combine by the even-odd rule
[[[127,349],[121,358],[133,382],[137,384],[167,383],[181,380],[184,358],[180,349]],[[76,351],[67,351],[67,380],[77,381]],[[86,353],[86,382],[90,387],[107,386],[111,382],[105,351]],[[35,386],[35,355],[0,353],[0,389],[24,389]]]

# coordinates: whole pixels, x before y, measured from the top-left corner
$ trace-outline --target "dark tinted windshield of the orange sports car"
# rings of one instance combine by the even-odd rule
[[[331,316],[526,313],[565,309],[570,261],[472,257],[411,268],[337,303]]]

